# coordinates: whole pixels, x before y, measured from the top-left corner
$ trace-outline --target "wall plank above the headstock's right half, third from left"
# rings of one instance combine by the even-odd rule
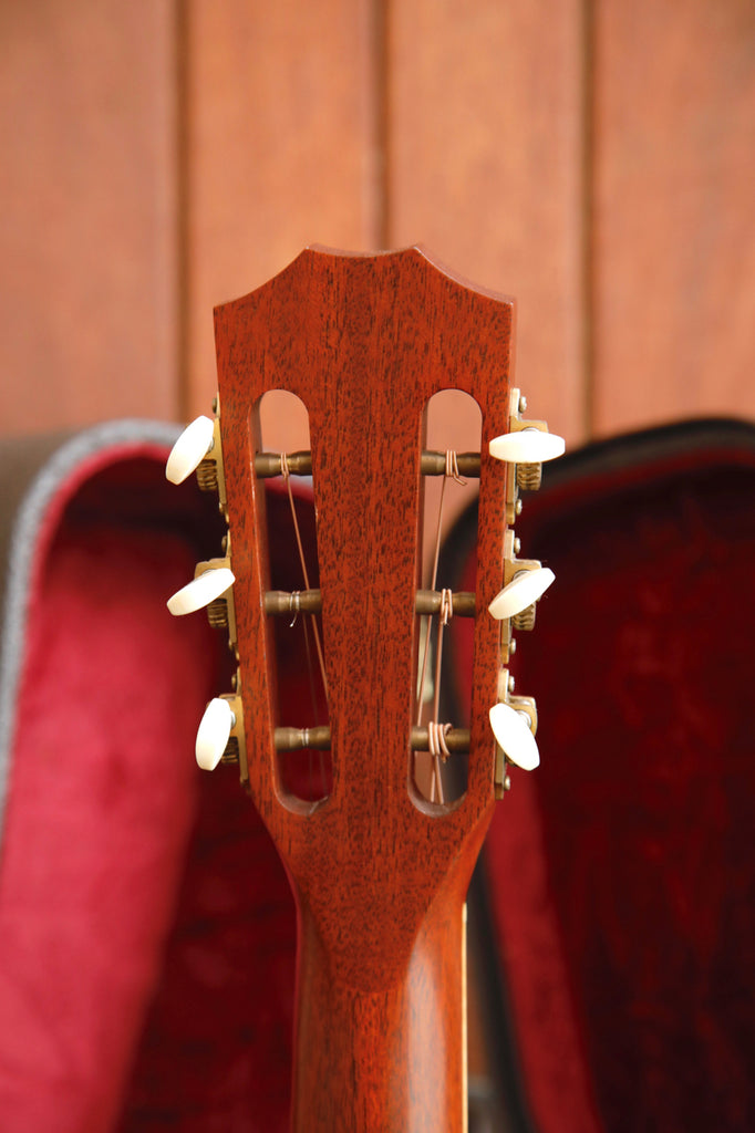
[[[583,434],[582,6],[393,3],[390,242],[417,240],[518,304],[516,384]],[[459,421],[459,448],[472,420]]]

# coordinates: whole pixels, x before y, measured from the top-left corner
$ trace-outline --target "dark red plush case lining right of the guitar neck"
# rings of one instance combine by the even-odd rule
[[[755,1128],[754,489],[750,437],[577,466],[517,525],[557,576],[511,665],[542,765],[485,864],[543,1131]]]

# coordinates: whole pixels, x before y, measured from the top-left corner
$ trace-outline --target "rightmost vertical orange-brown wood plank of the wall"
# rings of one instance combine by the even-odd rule
[[[755,7],[595,5],[600,433],[755,415]]]

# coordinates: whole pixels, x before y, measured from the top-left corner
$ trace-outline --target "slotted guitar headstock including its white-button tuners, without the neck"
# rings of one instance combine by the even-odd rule
[[[461,283],[417,248],[306,249],[215,309],[219,412],[189,426],[171,460],[178,479],[204,458],[200,476],[218,487],[229,537],[218,560],[200,565],[188,597],[171,603],[177,613],[210,603],[211,617],[228,625],[237,688],[209,707],[197,755],[210,766],[229,742],[313,904],[330,875],[349,901],[360,895],[363,908],[397,918],[405,893],[389,861],[413,877],[413,901],[432,900],[449,872],[466,887],[506,786],[503,748],[523,766],[537,761],[534,701],[510,695],[506,666],[512,627],[518,619],[527,628],[552,576],[517,559],[511,525],[519,488],[536,486],[537,465],[559,454],[559,438],[521,420],[509,383],[512,324],[511,300]],[[298,397],[309,420],[309,451],[282,461],[264,450],[260,428],[262,398],[273,390]],[[480,407],[478,453],[425,448],[426,408],[443,390]],[[311,568],[287,593],[271,582],[265,520],[266,486],[281,472],[286,488],[297,474],[312,476],[316,516],[319,579]],[[480,520],[475,591],[451,597],[455,616],[474,619],[470,718],[449,729],[418,715],[417,674],[423,620],[449,613],[448,595],[422,586],[424,483],[455,472],[478,477]],[[324,717],[304,726],[283,718],[277,688],[275,625],[296,614],[312,624],[315,674],[322,658],[315,701]],[[296,747],[329,752],[323,798],[287,785],[281,750]],[[440,776],[438,791],[422,789],[417,750],[431,764],[468,751],[459,798],[443,801]],[[371,951],[365,939],[362,963]]]

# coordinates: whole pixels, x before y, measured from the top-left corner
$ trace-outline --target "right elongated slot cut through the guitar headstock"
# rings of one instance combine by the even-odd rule
[[[413,750],[410,790],[425,803],[446,810],[457,803],[467,789],[468,740],[466,746],[449,743],[446,733],[459,729],[468,734],[468,718],[450,719],[443,714],[440,699],[443,639],[451,617],[474,616],[474,595],[452,595],[450,579],[439,573],[439,553],[448,520],[464,510],[477,495],[480,483],[480,445],[482,414],[475,398],[459,389],[438,390],[427,399],[422,433],[424,451],[421,460],[422,519],[419,542],[423,547],[423,594],[436,595],[432,613],[421,613],[430,603],[416,603],[415,649],[417,654],[417,704],[413,748],[419,729],[427,735],[419,750]],[[472,451],[461,451],[460,441]],[[473,579],[473,583],[475,580]],[[473,600],[469,602],[469,598]],[[474,661],[457,681],[465,690],[463,702],[469,704]],[[439,730],[433,725],[442,725]]]

